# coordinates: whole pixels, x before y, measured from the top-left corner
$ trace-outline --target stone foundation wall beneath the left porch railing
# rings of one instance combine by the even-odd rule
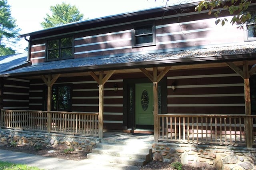
[[[1,144],[10,145],[15,141],[19,146],[47,146],[52,148],[82,150],[91,152],[99,138],[87,136],[74,136],[46,132],[33,132],[16,129],[1,129]]]

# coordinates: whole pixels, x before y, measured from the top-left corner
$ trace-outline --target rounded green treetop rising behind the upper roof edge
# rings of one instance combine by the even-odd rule
[[[84,14],[80,14],[76,6],[71,6],[64,2],[62,4],[56,4],[56,6],[50,6],[50,11],[52,12],[52,16],[46,14],[46,18],[40,23],[43,28],[51,28],[70,22],[81,21],[84,17]]]

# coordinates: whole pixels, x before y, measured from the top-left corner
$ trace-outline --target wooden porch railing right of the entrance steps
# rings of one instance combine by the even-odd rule
[[[246,144],[246,119],[252,121],[255,144],[256,115],[158,115],[158,140]]]

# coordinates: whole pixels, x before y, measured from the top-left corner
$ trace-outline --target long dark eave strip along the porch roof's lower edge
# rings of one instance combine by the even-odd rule
[[[115,63],[106,65],[92,65],[83,67],[70,67],[64,69],[52,69],[42,71],[31,71],[26,74],[12,73],[2,74],[0,77],[18,77],[18,76],[32,76],[32,75],[44,75],[44,74],[57,74],[57,73],[75,73],[81,71],[107,71],[107,70],[122,70],[122,69],[137,69],[137,68],[149,68],[149,67],[164,67],[164,66],[176,66],[176,65],[192,65],[192,64],[205,64],[205,63],[224,63],[228,61],[243,61],[243,60],[255,60],[256,53],[236,54],[236,55],[219,55],[219,56],[200,56],[178,59],[166,59],[156,61],[137,61],[129,63]]]

